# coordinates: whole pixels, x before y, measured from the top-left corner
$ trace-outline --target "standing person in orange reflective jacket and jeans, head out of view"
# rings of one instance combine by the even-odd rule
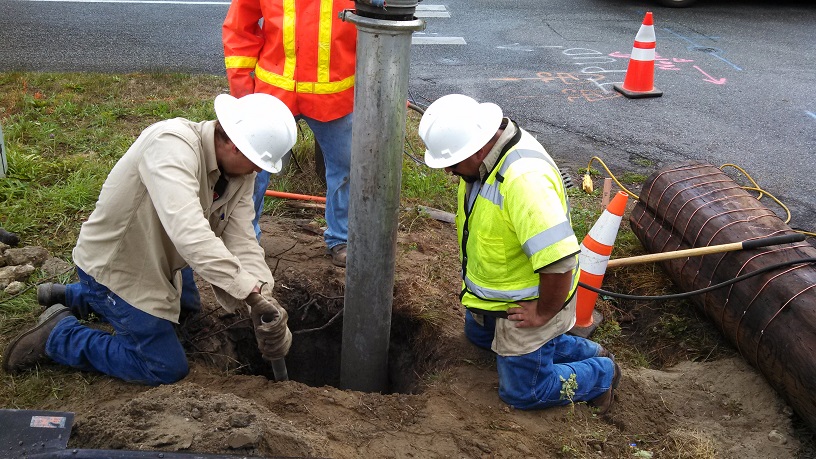
[[[282,100],[312,130],[326,164],[323,238],[346,265],[357,29],[340,19],[352,0],[233,0],[222,28],[230,93]],[[279,172],[275,171],[275,172]],[[255,178],[255,234],[270,173]]]

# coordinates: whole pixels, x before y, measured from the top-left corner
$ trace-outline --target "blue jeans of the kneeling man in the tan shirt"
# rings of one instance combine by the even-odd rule
[[[136,309],[79,268],[77,274],[79,282],[66,286],[66,306],[80,317],[96,313],[113,326],[114,333],[86,327],[69,316],[48,336],[48,357],[151,386],[187,376],[187,357],[172,322]]]

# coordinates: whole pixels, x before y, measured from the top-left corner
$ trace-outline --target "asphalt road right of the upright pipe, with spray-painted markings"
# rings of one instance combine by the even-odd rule
[[[791,207],[793,226],[816,229],[813,2],[446,5],[451,18],[429,20],[425,34],[461,36],[467,45],[414,47],[414,97],[462,92],[496,102],[573,168],[592,156],[616,174],[684,160],[735,163]],[[612,83],[624,79],[646,11],[654,15],[655,86],[664,95],[626,99]]]

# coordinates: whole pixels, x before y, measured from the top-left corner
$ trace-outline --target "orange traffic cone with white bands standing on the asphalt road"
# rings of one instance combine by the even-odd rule
[[[635,36],[635,46],[632,47],[623,86],[615,84],[613,85],[615,90],[630,99],[662,96],[663,91],[654,87],[654,58],[654,21],[652,12],[649,11]]]

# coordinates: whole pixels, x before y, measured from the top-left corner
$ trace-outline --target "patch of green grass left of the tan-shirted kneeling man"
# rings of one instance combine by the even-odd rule
[[[110,168],[148,125],[212,119],[213,76],[0,74],[9,171],[0,224],[69,259]]]

